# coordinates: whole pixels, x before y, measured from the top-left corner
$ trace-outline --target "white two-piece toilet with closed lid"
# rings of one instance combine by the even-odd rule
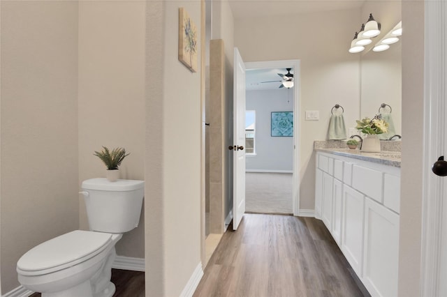
[[[82,182],[91,231],[75,230],[45,241],[17,261],[23,287],[43,297],[110,297],[115,243],[138,226],[144,181],[92,178]]]

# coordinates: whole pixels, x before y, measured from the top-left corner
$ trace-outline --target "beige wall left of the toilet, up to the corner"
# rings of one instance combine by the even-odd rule
[[[1,294],[78,229],[78,2],[1,1]]]

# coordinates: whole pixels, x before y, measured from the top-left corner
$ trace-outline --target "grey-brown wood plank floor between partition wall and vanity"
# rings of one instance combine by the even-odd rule
[[[230,228],[228,228],[230,230]],[[368,296],[320,220],[245,214],[193,296]]]

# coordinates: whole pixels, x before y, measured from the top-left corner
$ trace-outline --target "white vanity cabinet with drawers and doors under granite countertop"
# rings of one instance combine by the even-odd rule
[[[397,295],[400,167],[316,153],[315,216],[372,296]]]

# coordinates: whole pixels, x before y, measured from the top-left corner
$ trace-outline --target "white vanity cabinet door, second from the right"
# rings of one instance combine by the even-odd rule
[[[342,252],[360,278],[362,277],[364,200],[362,193],[344,185]]]

